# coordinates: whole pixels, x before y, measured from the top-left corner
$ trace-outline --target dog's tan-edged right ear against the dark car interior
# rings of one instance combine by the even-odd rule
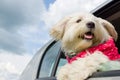
[[[109,32],[109,34],[115,39],[115,41],[118,38],[118,34],[114,28],[114,26],[108,22],[107,20],[99,18],[102,22],[102,25],[105,27],[105,29]]]

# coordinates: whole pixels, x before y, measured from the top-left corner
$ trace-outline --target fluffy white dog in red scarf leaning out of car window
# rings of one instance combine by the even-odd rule
[[[60,40],[68,63],[57,80],[85,80],[94,72],[120,69],[120,59],[114,40],[117,33],[108,21],[92,14],[65,17],[50,31]],[[114,39],[114,40],[113,40]]]

